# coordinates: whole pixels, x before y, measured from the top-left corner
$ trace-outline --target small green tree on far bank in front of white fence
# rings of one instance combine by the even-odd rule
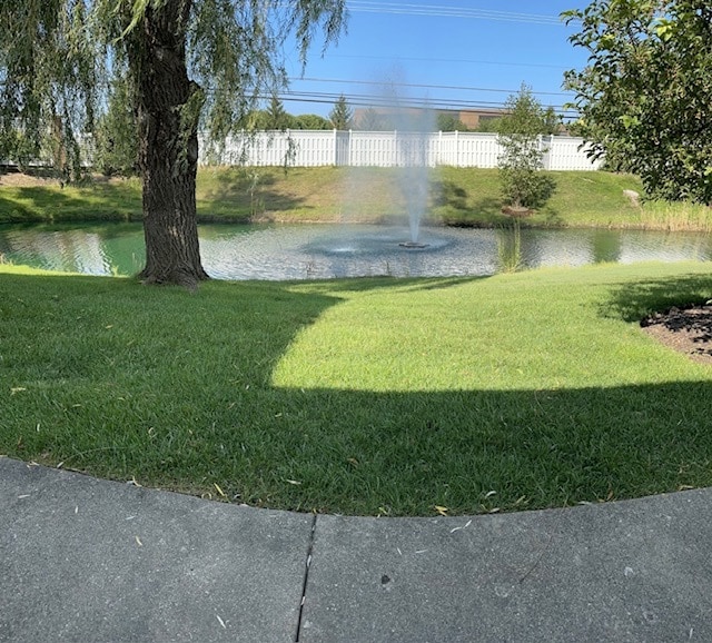
[[[543,205],[554,192],[554,180],[542,174],[546,112],[526,85],[505,103],[497,120],[497,142],[502,148],[497,166],[505,200],[524,208]]]

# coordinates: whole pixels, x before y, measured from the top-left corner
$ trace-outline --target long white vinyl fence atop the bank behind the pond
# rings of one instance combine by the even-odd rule
[[[544,169],[597,170],[602,161],[589,159],[583,144],[568,136],[540,137]],[[462,131],[265,131],[217,147],[200,140],[202,165],[494,168],[501,152],[497,135]]]

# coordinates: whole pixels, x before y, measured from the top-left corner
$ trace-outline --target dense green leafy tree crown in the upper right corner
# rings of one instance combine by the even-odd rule
[[[712,6],[699,0],[594,0],[562,14],[589,52],[565,86],[576,132],[652,197],[712,204]]]

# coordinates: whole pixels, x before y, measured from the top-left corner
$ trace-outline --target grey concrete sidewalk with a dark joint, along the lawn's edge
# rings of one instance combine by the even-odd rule
[[[712,489],[363,518],[0,458],[0,641],[712,641]]]

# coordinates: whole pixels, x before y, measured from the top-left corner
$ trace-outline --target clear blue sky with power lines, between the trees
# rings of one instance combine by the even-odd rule
[[[497,107],[526,83],[544,106],[561,108],[566,69],[585,65],[562,11],[585,0],[347,0],[348,32],[301,77],[288,63],[294,115],[328,116],[344,95],[353,107],[383,100],[384,83],[400,101],[438,108]],[[304,100],[291,100],[304,99]]]

